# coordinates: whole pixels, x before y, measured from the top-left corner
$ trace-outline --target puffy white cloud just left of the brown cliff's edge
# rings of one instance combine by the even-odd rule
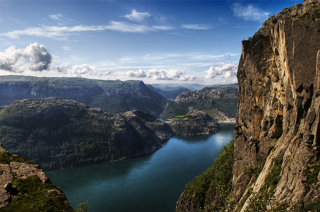
[[[232,63],[230,60],[228,60],[228,63],[222,61],[218,64],[215,64],[214,66],[211,66],[208,71],[204,71],[204,73],[206,73],[204,78],[212,79],[216,76],[220,76],[223,72],[225,72],[225,78],[235,76],[237,73],[236,64]]]

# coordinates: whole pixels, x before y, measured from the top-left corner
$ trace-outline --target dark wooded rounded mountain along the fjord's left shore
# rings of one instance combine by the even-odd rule
[[[59,97],[0,107],[0,143],[45,170],[117,161],[162,147],[175,133],[146,112],[111,115]]]

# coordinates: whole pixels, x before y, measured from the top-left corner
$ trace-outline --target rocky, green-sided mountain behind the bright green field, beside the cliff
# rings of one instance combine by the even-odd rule
[[[238,89],[233,86],[205,87],[199,91],[183,92],[167,103],[161,118],[184,116],[191,110],[202,110],[223,122],[237,114]]]

